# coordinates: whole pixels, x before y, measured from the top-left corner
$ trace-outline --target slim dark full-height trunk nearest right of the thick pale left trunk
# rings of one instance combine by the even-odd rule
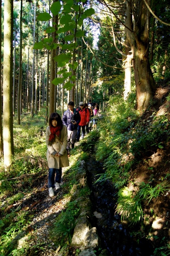
[[[18,95],[17,95],[17,120],[18,124],[21,124],[20,120],[20,97],[21,97],[21,73],[22,73],[22,43],[23,43],[23,31],[22,31],[22,18],[23,18],[23,0],[21,0],[20,7],[20,58],[19,58],[19,77],[18,77]]]

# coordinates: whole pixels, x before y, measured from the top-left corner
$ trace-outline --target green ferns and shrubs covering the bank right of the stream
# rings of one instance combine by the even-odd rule
[[[168,146],[169,114],[157,116],[153,111],[149,117],[143,118],[134,108],[134,94],[126,102],[121,98],[120,95],[110,98],[102,122],[98,125],[100,138],[96,146],[96,160],[103,162],[105,173],[100,175],[97,182],[112,181],[118,191],[116,213],[129,225],[143,225],[145,208],[170,191],[170,181],[166,176],[168,174],[164,173],[158,184],[153,183],[153,178],[150,180],[152,184],[142,182],[136,187],[130,177],[144,156],[151,156],[158,149]],[[147,218],[154,216],[154,210],[151,210]],[[147,231],[144,236],[147,237]],[[167,238],[165,241],[168,241]],[[164,252],[167,247],[168,242]]]

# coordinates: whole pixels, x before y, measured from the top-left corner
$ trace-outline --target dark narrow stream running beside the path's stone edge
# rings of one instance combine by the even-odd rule
[[[130,227],[115,215],[116,190],[109,181],[95,183],[99,174],[103,173],[102,164],[93,158],[86,163],[88,166],[88,185],[91,189],[93,211],[102,218],[94,216],[93,225],[101,239],[102,248],[113,256],[151,256],[153,247],[146,239],[136,242],[130,235]],[[97,176],[96,176],[97,175]],[[133,227],[134,230],[134,227]],[[137,232],[136,227],[136,232]]]

